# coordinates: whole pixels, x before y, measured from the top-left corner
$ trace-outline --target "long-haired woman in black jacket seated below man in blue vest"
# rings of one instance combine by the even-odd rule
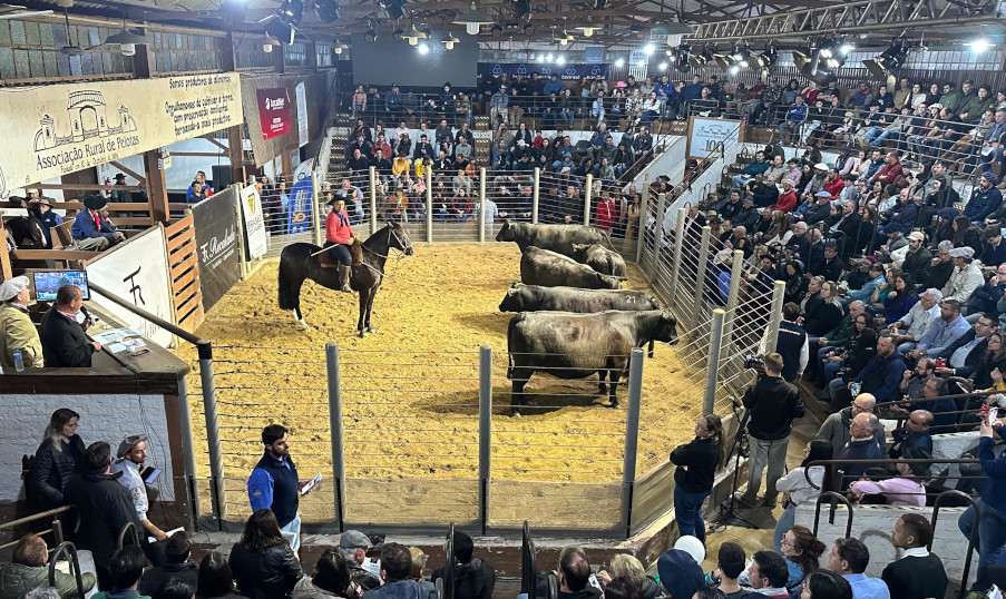
[[[228,561],[237,590],[250,599],[284,599],[304,576],[276,517],[266,509],[248,517]]]

